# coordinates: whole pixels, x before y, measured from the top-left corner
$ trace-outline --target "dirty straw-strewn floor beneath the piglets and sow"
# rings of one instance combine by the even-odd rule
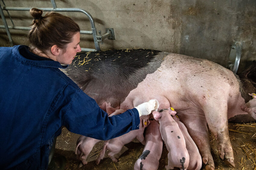
[[[229,138],[233,147],[235,157],[235,168],[226,165],[218,155],[215,145],[215,139],[210,135],[210,143],[212,147],[212,155],[216,170],[256,170],[256,123],[235,124],[229,123]],[[100,142],[94,146],[88,156],[88,164],[82,165],[76,159],[75,148],[76,140],[80,135],[69,132],[66,128],[62,128],[62,134],[56,141],[55,155],[63,155],[67,159],[66,170],[132,170],[134,163],[142,154],[144,145],[141,143],[130,142],[123,147],[122,155],[118,158],[118,162],[112,162],[110,158],[101,160],[99,165],[95,164],[95,159],[103,146]],[[165,145],[163,147],[162,156],[159,160],[159,170],[164,170],[168,164],[168,150]],[[87,159],[87,160],[88,160]],[[178,169],[178,168],[177,168]]]

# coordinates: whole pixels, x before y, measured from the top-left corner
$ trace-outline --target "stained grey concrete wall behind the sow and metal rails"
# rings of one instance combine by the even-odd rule
[[[5,0],[5,5],[52,8],[50,0]],[[116,40],[105,39],[102,51],[147,48],[204,58],[226,67],[232,43],[241,41],[238,73],[256,60],[255,0],[56,0],[56,5],[85,9],[102,34],[105,28],[114,28]],[[9,12],[15,26],[32,22],[28,11]],[[81,30],[91,30],[85,14],[61,13],[72,17]],[[8,18],[6,11],[4,14]],[[26,31],[10,31],[14,45],[28,44]],[[0,29],[0,39],[0,46],[9,46],[5,29]],[[95,48],[91,35],[81,35],[80,45]]]

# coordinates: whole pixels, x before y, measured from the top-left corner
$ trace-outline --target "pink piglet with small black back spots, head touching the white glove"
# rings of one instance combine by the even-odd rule
[[[178,167],[186,170],[189,164],[189,154],[186,149],[184,136],[178,126],[178,123],[172,118],[176,111],[173,108],[162,109],[159,112],[154,111],[155,120],[160,123],[160,132],[165,142],[168,153],[168,165],[165,168],[173,169]]]

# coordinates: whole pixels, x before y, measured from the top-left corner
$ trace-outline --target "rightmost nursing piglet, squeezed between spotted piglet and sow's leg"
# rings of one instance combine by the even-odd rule
[[[181,129],[181,132],[185,138],[186,148],[189,154],[189,164],[187,169],[200,170],[202,167],[202,157],[199,153],[197,145],[195,144],[193,139],[190,137],[186,126],[180,121],[180,119],[175,115],[173,116],[173,119],[178,123],[179,128]]]

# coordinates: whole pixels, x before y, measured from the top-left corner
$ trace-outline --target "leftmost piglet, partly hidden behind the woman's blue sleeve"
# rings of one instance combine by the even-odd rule
[[[115,110],[113,107],[107,107],[106,111],[108,113],[108,115],[111,117],[113,115],[118,115],[120,113],[125,112],[122,109],[119,110]],[[96,145],[97,143],[99,143],[101,140],[98,139],[94,139],[94,138],[90,138],[90,137],[86,137],[81,135],[77,141],[76,141],[76,149],[75,149],[75,154],[77,155],[77,159],[81,160],[82,164],[85,165],[88,162],[86,161],[87,156],[89,155],[89,153],[91,152],[92,148],[94,147],[94,145]],[[82,165],[80,164],[79,167],[81,167]]]

